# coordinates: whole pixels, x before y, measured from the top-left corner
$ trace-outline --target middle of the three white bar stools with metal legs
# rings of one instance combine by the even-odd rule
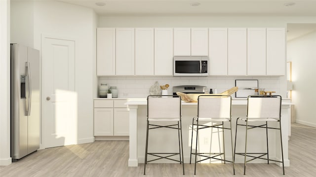
[[[197,118],[192,120],[192,137],[191,137],[191,154],[190,154],[190,164],[192,154],[195,155],[195,167],[194,175],[196,175],[197,163],[207,159],[216,159],[226,162],[233,163],[233,172],[235,175],[235,162],[234,162],[234,152],[233,152],[233,134],[232,134],[232,97],[230,95],[200,95],[197,98]],[[194,121],[197,123],[195,124]],[[211,122],[211,125],[200,124],[200,122]],[[224,122],[230,122],[228,128],[224,127]],[[213,124],[215,123],[215,124]],[[192,152],[192,142],[193,142],[193,127],[197,126],[197,139],[196,139],[196,152]],[[197,152],[198,144],[198,131],[204,128],[217,128],[222,129],[223,132],[223,152]],[[225,141],[224,141],[224,130],[230,130],[231,132],[231,143],[232,143],[232,161],[225,158]],[[224,155],[224,159],[219,157]],[[197,156],[203,158],[197,160]]]

